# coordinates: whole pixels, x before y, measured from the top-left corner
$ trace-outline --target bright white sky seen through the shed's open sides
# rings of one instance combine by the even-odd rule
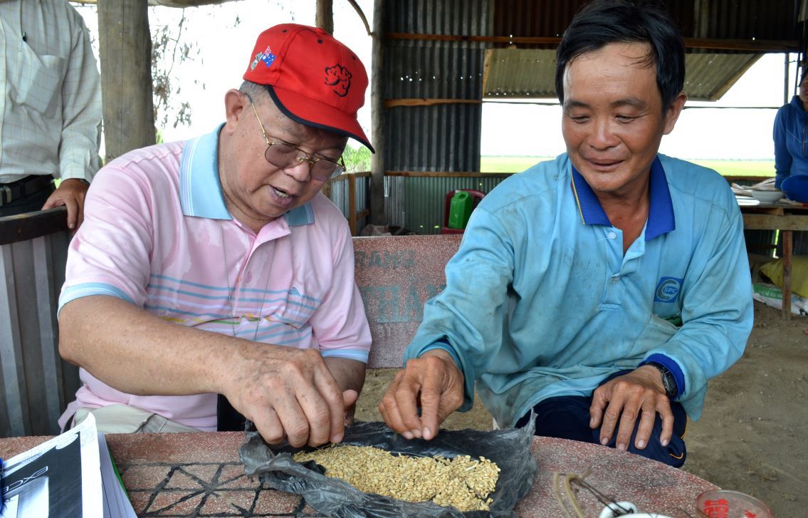
[[[281,2],[278,2],[281,3]],[[162,130],[166,141],[181,140],[206,133],[223,120],[225,91],[237,88],[250,61],[259,32],[276,23],[314,25],[314,0],[306,2],[241,0],[219,6],[185,10],[149,7],[153,34],[159,27],[172,28],[176,37],[179,20],[185,16],[179,43],[192,46],[193,57],[175,61],[172,76],[181,86],[172,97],[176,110],[182,102],[191,105],[191,124],[172,124]],[[372,27],[372,0],[359,0]],[[77,6],[84,17],[94,44],[98,43],[95,6]],[[184,11],[184,12],[183,12]],[[371,38],[358,15],[346,0],[334,2],[335,36],[347,44],[369,67]],[[791,83],[796,69],[791,56]],[[670,135],[663,138],[661,151],[680,158],[720,158],[741,160],[773,159],[772,123],[776,108],[784,103],[783,54],[769,54],[755,65],[716,103],[688,102]],[[170,66],[164,64],[164,66]],[[542,103],[555,99],[537,99]],[[369,89],[360,124],[371,134]],[[700,107],[696,109],[695,107]],[[718,107],[755,107],[732,109]],[[170,113],[169,120],[173,120]],[[482,107],[482,155],[553,156],[564,150],[560,132],[561,109],[536,104],[484,103]],[[371,135],[371,141],[373,137]]]

